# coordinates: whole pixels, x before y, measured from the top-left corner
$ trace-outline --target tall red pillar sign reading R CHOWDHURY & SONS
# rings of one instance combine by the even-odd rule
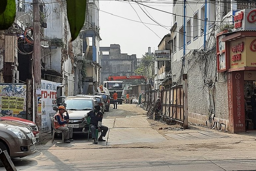
[[[227,90],[229,131],[233,133],[244,132],[244,74],[242,71],[228,73]]]

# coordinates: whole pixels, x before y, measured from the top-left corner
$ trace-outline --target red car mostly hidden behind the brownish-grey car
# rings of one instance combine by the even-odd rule
[[[37,126],[34,122],[26,120],[26,119],[18,118],[18,117],[5,116],[1,112],[0,112],[0,120],[2,120],[2,121],[16,121],[16,122],[20,122],[22,124],[25,124],[25,125],[29,126],[30,128],[32,128],[32,132],[35,135],[37,142],[39,141],[39,131],[38,131],[38,128],[37,128]]]

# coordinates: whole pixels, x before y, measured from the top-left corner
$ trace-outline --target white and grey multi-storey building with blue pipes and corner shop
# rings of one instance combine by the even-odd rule
[[[225,125],[231,132],[245,131],[245,125],[249,127],[250,123],[245,124],[244,92],[251,96],[255,87],[252,79],[255,67],[248,62],[253,61],[250,55],[255,55],[250,44],[256,28],[248,26],[255,22],[252,20],[255,11],[237,11],[253,8],[255,3],[173,2],[172,80],[174,84],[182,84],[182,74],[188,74],[189,121],[205,126],[219,122],[221,128]],[[234,50],[237,45],[243,48]],[[250,51],[253,53],[249,54]],[[250,78],[245,78],[248,74]]]

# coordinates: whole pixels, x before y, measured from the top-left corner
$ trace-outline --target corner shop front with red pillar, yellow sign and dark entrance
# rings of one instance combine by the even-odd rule
[[[254,124],[251,96],[256,89],[256,32],[226,34],[222,42],[226,67],[221,69],[227,71],[229,131],[244,132],[253,129]]]

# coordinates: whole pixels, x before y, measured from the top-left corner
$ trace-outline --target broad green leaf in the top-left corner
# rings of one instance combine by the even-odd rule
[[[15,0],[3,0],[4,3],[5,1],[7,2],[5,10],[2,12],[3,7],[0,8],[0,30],[6,30],[9,27],[11,27],[16,16]],[[2,0],[1,0],[1,6],[2,6]]]

